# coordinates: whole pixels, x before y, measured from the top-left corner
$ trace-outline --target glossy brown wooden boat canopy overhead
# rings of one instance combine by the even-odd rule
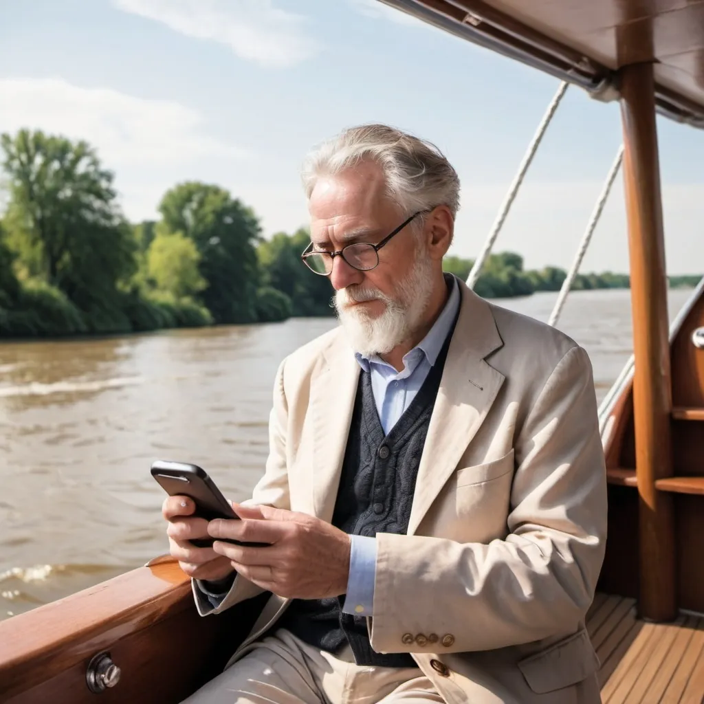
[[[654,63],[658,112],[704,129],[704,0],[382,2],[604,101],[617,70]]]

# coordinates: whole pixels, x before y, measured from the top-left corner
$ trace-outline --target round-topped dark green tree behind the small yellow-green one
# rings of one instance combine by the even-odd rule
[[[253,211],[218,186],[185,182],[166,192],[159,212],[167,230],[195,242],[206,281],[200,298],[215,322],[255,321],[260,226]]]

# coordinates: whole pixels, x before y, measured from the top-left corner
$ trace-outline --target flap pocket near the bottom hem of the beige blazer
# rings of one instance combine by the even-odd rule
[[[600,666],[585,629],[518,662],[528,686],[536,694],[578,684]]]

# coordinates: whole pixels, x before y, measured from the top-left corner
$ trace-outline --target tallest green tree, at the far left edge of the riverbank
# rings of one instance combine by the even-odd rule
[[[86,142],[20,130],[3,134],[8,243],[30,277],[56,287],[89,329],[130,329],[120,286],[136,267],[132,227],[113,175]]]

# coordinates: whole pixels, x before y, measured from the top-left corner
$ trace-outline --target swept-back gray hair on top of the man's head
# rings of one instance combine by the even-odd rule
[[[366,160],[381,166],[387,194],[409,215],[439,205],[457,215],[460,179],[451,163],[434,144],[388,125],[350,127],[311,151],[301,172],[306,198],[319,177]]]

